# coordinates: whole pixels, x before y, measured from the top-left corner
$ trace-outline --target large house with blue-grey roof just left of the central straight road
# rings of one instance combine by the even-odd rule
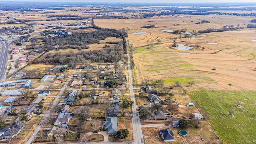
[[[103,125],[106,127],[108,134],[115,134],[118,130],[117,127],[117,117],[107,117],[103,121]]]

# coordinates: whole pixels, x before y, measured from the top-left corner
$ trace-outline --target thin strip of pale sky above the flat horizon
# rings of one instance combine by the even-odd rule
[[[234,3],[234,2],[254,2],[256,0],[0,0],[0,1],[32,1],[32,2],[145,2],[145,3]]]

